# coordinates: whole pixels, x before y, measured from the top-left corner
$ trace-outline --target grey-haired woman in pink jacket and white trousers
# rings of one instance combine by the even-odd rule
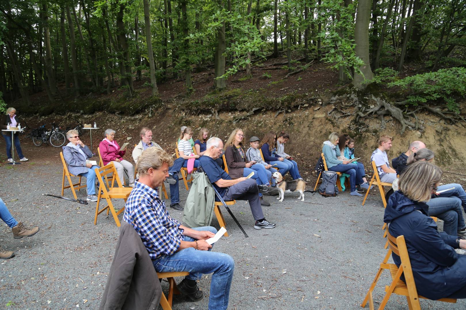
[[[123,159],[126,151],[120,150],[120,145],[115,141],[115,131],[113,129],[107,129],[105,131],[105,138],[99,144],[100,155],[102,156],[103,165],[107,165],[113,162],[117,169],[118,177],[120,178],[121,184],[124,184],[124,172],[128,174],[130,179],[130,186],[134,186],[134,168],[133,165]]]

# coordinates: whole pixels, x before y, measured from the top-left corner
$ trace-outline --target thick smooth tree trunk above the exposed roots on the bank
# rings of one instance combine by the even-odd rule
[[[372,79],[374,74],[370,69],[369,60],[369,22],[370,22],[370,0],[359,0],[356,12],[356,26],[354,31],[354,39],[356,43],[355,53],[364,64],[359,67],[363,74],[355,70],[353,85],[359,89],[363,89],[366,85],[364,79]]]

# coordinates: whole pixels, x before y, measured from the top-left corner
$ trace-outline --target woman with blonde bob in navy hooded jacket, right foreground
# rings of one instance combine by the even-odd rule
[[[404,235],[418,294],[429,299],[466,298],[466,240],[437,230],[426,204],[442,179],[442,170],[425,160],[409,165],[385,208],[384,222],[393,237]],[[400,257],[392,253],[397,266]]]

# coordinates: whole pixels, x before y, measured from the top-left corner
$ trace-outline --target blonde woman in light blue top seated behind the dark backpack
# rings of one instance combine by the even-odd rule
[[[343,172],[349,174],[349,185],[350,185],[350,195],[352,196],[363,196],[356,191],[356,180],[361,184],[361,188],[368,189],[369,185],[363,183],[361,175],[357,171],[357,165],[349,163],[348,160],[339,160],[338,157],[342,155],[340,148],[338,147],[338,142],[340,137],[338,133],[332,132],[329,135],[329,139],[323,143],[322,153],[327,163],[327,169],[335,172]]]

